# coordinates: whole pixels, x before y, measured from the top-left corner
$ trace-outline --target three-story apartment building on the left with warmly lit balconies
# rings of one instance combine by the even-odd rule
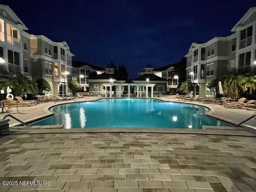
[[[0,74],[23,74],[34,81],[44,78],[52,87],[45,94],[69,93],[74,54],[68,44],[24,30],[28,28],[10,7],[0,5]]]

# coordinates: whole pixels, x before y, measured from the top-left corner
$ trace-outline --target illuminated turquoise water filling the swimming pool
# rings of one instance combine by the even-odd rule
[[[80,106],[79,106],[80,104]],[[158,99],[100,99],[61,104],[51,108],[56,115],[33,125],[65,124],[65,128],[147,127],[202,128],[202,125],[228,126],[205,115],[208,108]]]

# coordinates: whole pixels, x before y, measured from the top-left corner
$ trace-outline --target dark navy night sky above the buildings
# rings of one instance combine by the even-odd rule
[[[1,0],[30,34],[65,40],[80,60],[124,64],[132,78],[146,64],[178,62],[192,42],[231,34],[255,0]]]

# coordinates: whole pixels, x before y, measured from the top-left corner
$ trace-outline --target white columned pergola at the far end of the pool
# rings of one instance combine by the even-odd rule
[[[145,86],[146,87],[146,98],[148,98],[148,87],[151,88],[151,96],[150,97],[154,97],[154,86],[156,84],[152,84],[152,83],[106,83],[103,84],[105,87],[105,97],[108,96],[108,87],[109,87],[109,91],[110,91],[110,95],[109,97],[112,98],[113,94],[112,94],[112,86],[116,86],[116,97],[121,97],[121,90],[122,90],[122,86],[128,86],[128,98],[130,98],[130,86],[136,86],[137,87],[137,97],[142,97],[142,87]]]

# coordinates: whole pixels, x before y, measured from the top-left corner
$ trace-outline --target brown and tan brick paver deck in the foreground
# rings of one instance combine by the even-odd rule
[[[3,186],[38,192],[253,192],[254,137],[157,133],[22,134],[0,138]]]

